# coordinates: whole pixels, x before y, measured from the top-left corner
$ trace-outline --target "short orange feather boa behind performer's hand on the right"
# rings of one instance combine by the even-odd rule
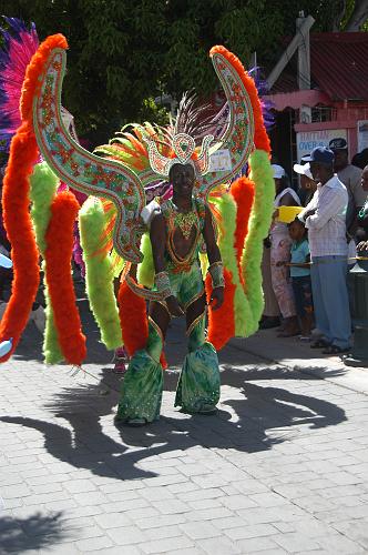
[[[216,351],[223,349],[229,339],[235,335],[234,320],[234,294],[236,286],[232,280],[232,273],[224,269],[225,291],[224,303],[221,309],[214,311],[208,307],[208,336],[207,340],[213,344]],[[212,293],[211,276],[206,276],[205,281],[207,302],[209,302]]]

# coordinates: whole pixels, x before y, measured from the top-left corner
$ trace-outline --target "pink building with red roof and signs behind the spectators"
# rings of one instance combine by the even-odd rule
[[[348,141],[350,158],[368,148],[368,33],[310,33],[309,90],[299,90],[297,73],[292,59],[267,97],[276,110],[273,152],[290,176],[294,162],[336,137]]]

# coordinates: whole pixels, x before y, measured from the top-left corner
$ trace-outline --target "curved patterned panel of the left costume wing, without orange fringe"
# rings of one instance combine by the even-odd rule
[[[65,129],[61,117],[65,62],[63,49],[51,51],[38,93],[33,97],[33,129],[38,147],[54,173],[68,185],[114,203],[117,211],[114,248],[123,259],[137,263],[142,260],[136,243],[142,232],[139,214],[145,205],[144,189],[134,171],[91,154]]]

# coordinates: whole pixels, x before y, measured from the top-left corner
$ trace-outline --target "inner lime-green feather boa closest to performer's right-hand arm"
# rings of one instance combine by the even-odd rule
[[[224,266],[232,274],[232,282],[235,285],[234,294],[234,323],[235,335],[245,336],[247,322],[252,320],[251,306],[245,295],[243,284],[236,262],[235,231],[236,231],[236,202],[229,193],[219,199],[212,199],[211,202],[217,205],[222,215],[223,229],[218,236],[218,248]]]

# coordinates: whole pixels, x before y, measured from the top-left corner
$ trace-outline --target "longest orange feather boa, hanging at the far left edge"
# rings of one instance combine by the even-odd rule
[[[3,222],[11,243],[13,261],[12,293],[0,326],[0,341],[12,337],[14,351],[27,325],[40,282],[39,251],[29,213],[29,175],[39,151],[27,123],[12,138],[7,172],[3,179]]]

